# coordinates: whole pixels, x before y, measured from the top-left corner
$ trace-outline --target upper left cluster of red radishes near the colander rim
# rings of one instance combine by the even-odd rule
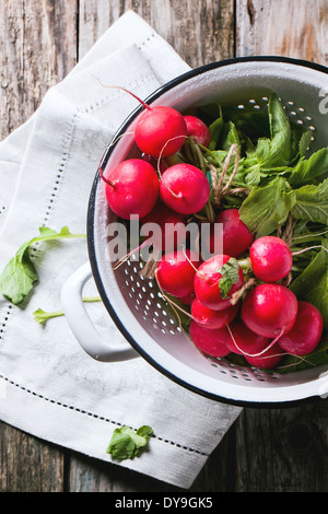
[[[141,101],[140,101],[141,102]],[[134,140],[144,155],[160,159],[175,154],[194,136],[201,144],[208,144],[208,127],[197,117],[183,116],[172,107],[150,107],[136,126]],[[159,177],[155,167],[147,159],[128,159],[109,170],[106,176],[107,202],[118,217],[129,220],[150,214],[159,197],[180,214],[194,214],[207,203],[210,186],[201,170],[191,164],[175,164]]]

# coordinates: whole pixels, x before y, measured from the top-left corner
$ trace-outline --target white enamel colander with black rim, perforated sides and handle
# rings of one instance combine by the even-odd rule
[[[185,112],[191,106],[219,102],[263,109],[276,92],[294,121],[313,130],[312,150],[327,147],[328,68],[306,61],[276,57],[231,59],[211,63],[171,81],[147,102]],[[327,102],[326,102],[327,105]],[[114,137],[102,167],[115,166],[133,152],[133,132],[142,108],[137,108]],[[154,281],[140,276],[141,262],[133,256],[118,269],[106,254],[106,227],[116,221],[109,211],[104,183],[96,174],[89,205],[87,244],[90,261],[62,289],[68,323],[82,348],[94,359],[108,362],[142,357],[159,372],[206,397],[235,405],[294,405],[328,396],[328,366],[292,373],[267,373],[229,363],[199,352],[180,330]],[[93,276],[108,314],[127,340],[114,344],[101,337],[82,301],[85,282]]]

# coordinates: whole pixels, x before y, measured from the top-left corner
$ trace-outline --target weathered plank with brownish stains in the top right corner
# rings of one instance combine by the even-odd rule
[[[237,56],[328,62],[327,0],[237,0],[236,16]]]

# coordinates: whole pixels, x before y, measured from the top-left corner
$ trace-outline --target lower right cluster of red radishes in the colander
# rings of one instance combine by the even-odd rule
[[[223,225],[223,234],[230,230],[229,224]],[[239,243],[236,225],[234,235]],[[261,369],[276,367],[285,353],[302,357],[313,352],[321,339],[323,316],[311,303],[297,301],[283,284],[293,264],[290,247],[279,237],[263,236],[254,241],[248,252],[255,285],[234,305],[229,303],[244,283],[242,268],[229,297],[222,299],[218,287],[220,268],[229,256],[214,256],[194,269],[194,343],[213,357],[231,352],[243,355],[250,365]]]

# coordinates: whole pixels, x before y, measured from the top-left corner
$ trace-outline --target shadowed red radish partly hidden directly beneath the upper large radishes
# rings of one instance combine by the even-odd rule
[[[152,231],[152,224],[154,231]],[[157,227],[157,230],[156,230]],[[169,252],[186,241],[186,220],[165,203],[157,202],[154,209],[142,219],[141,236],[161,252]]]

